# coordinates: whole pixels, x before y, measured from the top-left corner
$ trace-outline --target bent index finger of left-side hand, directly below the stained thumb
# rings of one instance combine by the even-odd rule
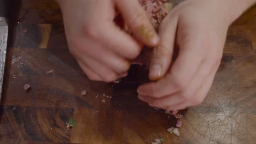
[[[142,45],[139,44],[131,35],[122,31],[114,23],[106,23],[107,28],[102,28],[101,40],[105,47],[117,53],[119,56],[134,59],[142,50]]]

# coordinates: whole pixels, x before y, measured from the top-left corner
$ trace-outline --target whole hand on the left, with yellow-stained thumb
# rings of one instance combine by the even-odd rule
[[[56,0],[57,1],[57,0]],[[159,43],[158,34],[137,0],[59,0],[69,51],[90,80],[111,82],[127,75],[142,45]],[[132,35],[114,23],[120,11]]]

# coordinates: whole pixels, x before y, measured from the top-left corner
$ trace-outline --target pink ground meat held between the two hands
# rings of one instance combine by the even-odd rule
[[[166,0],[138,0],[141,3],[142,7],[146,10],[146,13],[149,17],[150,22],[158,31],[159,24],[167,15],[167,11],[165,9]],[[124,29],[127,33],[131,33],[130,28],[125,24],[121,16],[118,16],[115,19],[115,22],[118,26]],[[141,54],[132,61],[131,64],[139,64],[149,66],[150,59],[152,57],[152,49],[144,47]]]

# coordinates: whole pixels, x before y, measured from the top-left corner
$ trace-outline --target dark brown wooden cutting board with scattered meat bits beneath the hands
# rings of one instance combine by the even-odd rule
[[[256,7],[230,27],[212,89],[202,105],[183,111],[177,137],[166,131],[175,118],[137,99],[137,86],[148,81],[144,67],[133,66],[120,83],[89,81],[67,49],[56,3],[13,4],[0,143],[150,143],[159,136],[165,143],[255,143]],[[67,130],[69,117],[77,125]]]

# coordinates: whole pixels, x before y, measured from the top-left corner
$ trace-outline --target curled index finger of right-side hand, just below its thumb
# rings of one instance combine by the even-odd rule
[[[187,43],[184,41],[180,47],[171,73],[165,79],[139,86],[137,90],[139,94],[161,98],[187,88],[203,60],[203,50],[200,49],[200,40],[194,38],[189,39]]]

